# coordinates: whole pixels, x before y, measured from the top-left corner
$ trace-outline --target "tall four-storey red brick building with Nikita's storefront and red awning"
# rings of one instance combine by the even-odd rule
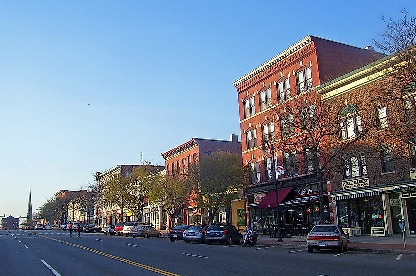
[[[300,93],[315,93],[320,84],[374,59],[374,51],[308,35],[233,83],[238,94],[243,163],[250,164],[254,172],[245,197],[248,224],[256,222],[258,228],[267,229],[276,223],[273,159],[262,153],[261,144],[262,140],[277,144],[290,139],[293,117],[278,117],[271,111],[283,109],[284,103]],[[314,214],[316,175],[299,162],[302,156],[296,152],[276,148],[275,159],[284,232],[305,234],[318,219]],[[325,187],[325,194],[327,190]],[[327,197],[325,203],[329,205]],[[329,210],[325,210],[328,221],[333,220]]]

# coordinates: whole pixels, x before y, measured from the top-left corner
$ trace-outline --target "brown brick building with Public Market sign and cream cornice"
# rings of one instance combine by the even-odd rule
[[[381,71],[384,62],[381,59],[318,89],[340,123],[334,144],[353,139],[366,127],[373,129],[339,157],[342,168],[330,174],[335,222],[352,235],[401,234],[402,218],[407,234],[416,234],[416,142],[412,131],[416,89],[410,83],[396,98],[377,101],[389,77]]]

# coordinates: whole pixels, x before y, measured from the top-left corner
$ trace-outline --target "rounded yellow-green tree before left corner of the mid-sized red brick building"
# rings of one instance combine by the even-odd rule
[[[149,202],[163,207],[169,218],[169,228],[172,228],[175,213],[183,206],[191,187],[178,176],[168,177],[162,173],[152,174],[151,181],[147,190]]]

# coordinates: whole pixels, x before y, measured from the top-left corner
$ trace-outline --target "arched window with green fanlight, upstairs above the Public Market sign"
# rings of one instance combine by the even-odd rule
[[[340,140],[354,138],[362,133],[360,109],[355,104],[347,104],[338,112]]]

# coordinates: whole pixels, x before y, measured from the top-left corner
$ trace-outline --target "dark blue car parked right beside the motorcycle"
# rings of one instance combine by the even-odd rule
[[[232,224],[213,223],[205,231],[205,241],[207,244],[211,244],[212,242],[219,242],[220,244],[224,242],[227,244],[237,242],[237,244],[242,244],[243,234]]]

